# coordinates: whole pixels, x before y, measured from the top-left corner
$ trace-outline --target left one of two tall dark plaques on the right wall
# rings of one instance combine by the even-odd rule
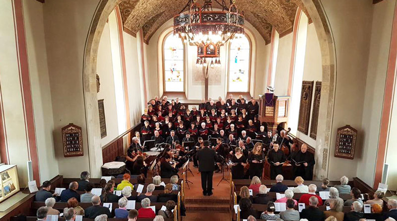
[[[301,104],[299,107],[298,131],[308,134],[310,122],[310,108],[312,107],[314,81],[302,81]]]

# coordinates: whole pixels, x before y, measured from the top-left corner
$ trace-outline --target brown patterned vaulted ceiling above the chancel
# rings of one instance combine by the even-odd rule
[[[213,7],[220,8],[213,0]],[[229,0],[225,0],[229,6]],[[124,29],[132,33],[143,30],[143,39],[147,43],[157,29],[179,13],[188,0],[122,0],[119,4]],[[203,0],[198,0],[200,5]],[[239,11],[265,39],[270,42],[271,28],[280,35],[292,31],[297,7],[304,8],[301,0],[236,0]],[[308,15],[309,16],[309,15]],[[310,18],[309,18],[310,19]]]

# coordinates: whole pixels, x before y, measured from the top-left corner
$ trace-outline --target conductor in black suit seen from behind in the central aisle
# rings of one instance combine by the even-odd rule
[[[209,148],[209,143],[204,142],[204,148],[197,152],[199,171],[201,173],[201,187],[204,196],[212,195],[212,175],[214,174],[216,153]]]

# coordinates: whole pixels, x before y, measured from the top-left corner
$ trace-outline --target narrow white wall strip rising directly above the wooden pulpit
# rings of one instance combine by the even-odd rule
[[[292,52],[292,34],[287,34],[278,41],[277,65],[274,80],[274,94],[277,96],[287,95]]]

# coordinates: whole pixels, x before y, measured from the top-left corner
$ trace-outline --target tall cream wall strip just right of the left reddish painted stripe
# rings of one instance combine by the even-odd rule
[[[22,3],[40,167],[40,183],[42,183],[59,174],[52,137],[54,118],[44,35],[43,4],[39,1],[31,0],[23,0]]]

